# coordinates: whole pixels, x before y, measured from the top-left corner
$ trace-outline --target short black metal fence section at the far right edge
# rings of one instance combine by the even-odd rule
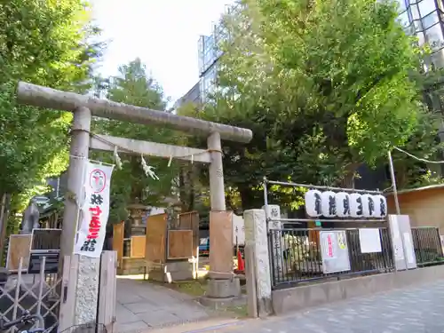
[[[440,230],[437,227],[412,227],[412,238],[418,267],[444,264]]]

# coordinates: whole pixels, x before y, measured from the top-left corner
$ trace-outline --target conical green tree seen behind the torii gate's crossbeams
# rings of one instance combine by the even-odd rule
[[[147,75],[147,68],[140,59],[131,61],[119,68],[119,76],[96,80],[98,94],[107,99],[137,107],[149,107],[166,111],[167,99],[162,87]],[[159,143],[171,143],[174,131],[159,126],[147,126],[139,123],[95,119],[93,131],[128,139],[147,140]],[[130,203],[143,203],[155,207],[164,207],[163,200],[170,196],[174,189],[174,180],[178,175],[178,164],[173,162],[168,167],[168,160],[144,156],[147,164],[155,167],[159,180],[147,177],[142,166],[140,155],[119,153],[123,169],[115,170],[111,182],[110,222],[115,223],[127,218],[126,207]],[[95,156],[95,157],[94,157]],[[95,159],[112,162],[112,154],[95,153]]]

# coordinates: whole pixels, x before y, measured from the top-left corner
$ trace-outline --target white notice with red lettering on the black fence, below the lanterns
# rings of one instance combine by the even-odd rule
[[[321,258],[324,274],[351,270],[345,230],[321,231]]]

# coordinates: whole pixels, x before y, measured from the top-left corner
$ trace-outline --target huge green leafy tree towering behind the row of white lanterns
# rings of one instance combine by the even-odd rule
[[[409,76],[419,52],[396,19],[374,0],[245,0],[226,16],[219,90],[199,116],[254,133],[224,143],[244,209],[260,206],[263,176],[353,186],[408,140],[424,112]]]

